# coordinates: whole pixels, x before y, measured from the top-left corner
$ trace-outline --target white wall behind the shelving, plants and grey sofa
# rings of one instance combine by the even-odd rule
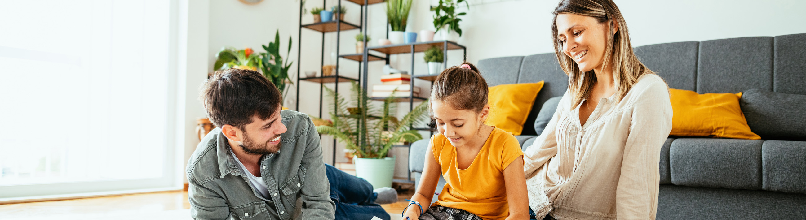
[[[202,1],[204,2],[204,1]],[[430,5],[436,4],[436,0],[415,0],[411,15],[409,16],[409,27],[407,31],[419,31],[430,29],[434,31],[431,18],[433,12],[429,10]],[[476,63],[478,60],[499,56],[527,56],[538,53],[554,52],[551,48],[550,25],[553,15],[551,11],[559,1],[556,0],[472,0],[473,5],[467,11],[468,15],[463,16],[460,23],[464,35],[459,39],[459,44],[467,46],[467,60]],[[682,0],[682,1],[639,1],[639,0],[616,0],[625,16],[629,26],[630,37],[634,47],[647,44],[660,44],[678,41],[722,39],[742,36],[774,36],[787,35],[806,32],[806,13],[800,10],[806,7],[804,1],[720,1],[720,0]],[[207,48],[199,49],[206,51],[207,62],[197,62],[205,64],[206,70],[212,72],[214,54],[223,46],[235,48],[251,47],[256,52],[262,52],[261,44],[268,44],[274,38],[276,30],[280,30],[282,47],[288,45],[289,35],[293,36],[294,47],[290,57],[297,60],[298,29],[299,22],[299,0],[297,1],[276,1],[266,0],[257,5],[245,5],[237,0],[211,0],[209,4],[209,35]],[[328,1],[327,8],[334,6],[335,1]],[[321,0],[309,0],[305,8],[322,6]],[[347,22],[359,23],[359,7],[347,1],[343,1],[347,6]],[[464,11],[462,9],[461,11]],[[372,37],[370,46],[376,45],[376,39],[385,38],[385,14],[384,4],[369,6],[369,35]],[[202,19],[203,20],[203,19]],[[302,23],[312,23],[311,15],[304,15]],[[204,22],[202,22],[204,23]],[[194,32],[202,34],[201,32]],[[343,31],[340,44],[340,54],[354,53],[355,39],[358,31]],[[334,64],[334,54],[336,35],[328,33],[325,35],[326,52],[324,64]],[[203,38],[203,37],[200,37]],[[316,31],[302,31],[302,62],[301,72],[318,69],[321,62],[322,34]],[[285,54],[285,53],[284,53]],[[460,51],[448,53],[449,65],[459,64],[462,56]],[[410,71],[409,55],[391,56],[392,64],[396,68]],[[357,62],[351,60],[340,60],[341,72],[345,76],[357,77]],[[190,65],[190,64],[189,64]],[[380,68],[383,62],[370,63],[370,85],[380,83]],[[195,67],[198,68],[198,67]],[[426,65],[422,61],[422,54],[415,56],[415,74],[426,71]],[[297,73],[297,65],[291,68],[292,74]],[[194,73],[196,74],[196,73]],[[191,83],[191,81],[189,81]],[[196,81],[193,81],[196,83]],[[200,81],[198,83],[201,83]],[[418,81],[417,86],[428,88],[426,82]],[[193,87],[196,86],[196,87]],[[332,88],[332,84],[328,85]],[[349,84],[339,85],[339,91],[348,92]],[[191,98],[193,89],[197,91],[197,85],[188,85],[188,98]],[[294,110],[295,90],[291,87],[285,106]],[[299,111],[318,116],[319,114],[319,89],[318,84],[310,82],[301,83],[301,102]],[[195,97],[193,97],[195,98]],[[195,100],[195,99],[194,99]],[[197,105],[197,101],[188,101],[189,105]],[[330,103],[330,102],[325,102]],[[416,103],[415,103],[416,104]],[[189,106],[196,108],[193,114],[189,114],[191,119],[198,115],[199,106]],[[402,115],[409,109],[408,104],[401,104],[398,114]],[[323,109],[329,110],[327,106]],[[191,110],[189,110],[190,113]],[[203,110],[202,110],[203,114]],[[324,114],[324,118],[329,118]],[[193,118],[195,119],[195,118]],[[194,122],[189,122],[194,123]],[[193,132],[189,129],[187,132]],[[427,133],[423,133],[427,135]],[[325,154],[326,163],[330,163],[331,147],[333,141],[328,136],[322,137],[322,149]],[[188,146],[195,143],[188,144]],[[341,146],[342,144],[339,144]],[[343,147],[337,149],[337,161],[345,161],[343,158]],[[192,149],[189,150],[192,152]],[[405,176],[407,149],[396,148],[392,152],[397,156],[397,169],[395,176]]]

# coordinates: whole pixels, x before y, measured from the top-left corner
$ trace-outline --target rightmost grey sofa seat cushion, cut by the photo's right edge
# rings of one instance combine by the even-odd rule
[[[761,151],[764,190],[806,193],[806,142],[767,140]]]

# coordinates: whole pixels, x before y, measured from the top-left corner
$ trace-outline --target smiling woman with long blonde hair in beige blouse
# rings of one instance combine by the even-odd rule
[[[634,55],[613,1],[563,0],[553,14],[568,90],[524,152],[530,208],[537,219],[654,219],[668,87]]]

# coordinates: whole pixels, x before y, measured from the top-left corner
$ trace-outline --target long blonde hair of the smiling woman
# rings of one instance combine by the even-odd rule
[[[568,75],[572,108],[576,108],[584,98],[590,96],[593,84],[596,83],[596,74],[593,73],[593,70],[582,72],[579,65],[563,53],[563,43],[557,36],[557,15],[583,15],[593,17],[598,23],[608,23],[610,34],[606,43],[608,45],[606,45],[604,65],[605,68],[613,70],[613,79],[618,87],[617,100],[621,101],[621,98],[624,98],[629,89],[638,83],[639,77],[644,74],[654,74],[633,53],[633,46],[629,43],[627,23],[612,0],[563,0],[559,2],[559,6],[552,14],[555,17],[551,23],[551,39],[555,45],[557,60]],[[618,27],[618,31],[615,33],[613,33],[614,23]]]

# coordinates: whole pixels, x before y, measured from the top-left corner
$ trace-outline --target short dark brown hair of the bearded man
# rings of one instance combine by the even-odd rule
[[[202,89],[207,116],[215,126],[226,124],[241,131],[252,122],[272,117],[282,102],[280,90],[254,70],[229,68],[210,77]]]

